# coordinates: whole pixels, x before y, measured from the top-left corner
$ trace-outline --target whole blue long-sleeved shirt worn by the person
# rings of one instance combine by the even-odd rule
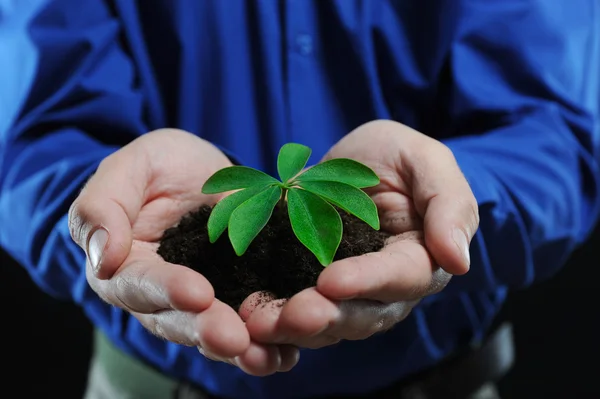
[[[367,392],[481,338],[598,218],[600,3],[0,0],[0,243],[124,351],[230,398]],[[442,140],[472,185],[471,271],[392,331],[256,378],[163,342],[88,287],[67,210],[102,158],[178,127],[275,172],[360,124]],[[51,327],[44,327],[51,328]]]

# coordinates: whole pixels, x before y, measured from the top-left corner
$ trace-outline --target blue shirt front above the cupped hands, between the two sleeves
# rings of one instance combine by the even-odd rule
[[[450,134],[441,126],[457,11],[447,2],[116,4],[134,58],[152,67],[143,78],[160,105],[149,104],[165,110],[156,127],[191,131],[250,166],[274,171],[290,141],[313,147],[316,162],[380,118]]]

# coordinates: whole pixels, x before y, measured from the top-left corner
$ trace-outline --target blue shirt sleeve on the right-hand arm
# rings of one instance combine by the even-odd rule
[[[444,294],[548,278],[599,212],[600,3],[465,1],[445,140],[479,204],[471,270]]]

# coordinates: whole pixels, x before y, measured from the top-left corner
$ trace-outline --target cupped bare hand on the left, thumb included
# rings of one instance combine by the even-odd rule
[[[202,186],[228,166],[221,151],[192,134],[145,134],[102,161],[69,210],[71,235],[87,254],[91,288],[153,334],[248,374],[287,371],[298,349],[252,342],[203,276],[156,254],[165,229],[219,199],[203,195]]]

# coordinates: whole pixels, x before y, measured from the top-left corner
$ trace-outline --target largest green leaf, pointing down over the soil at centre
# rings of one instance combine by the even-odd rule
[[[288,214],[300,242],[329,265],[342,241],[340,214],[318,195],[295,188],[288,191]]]

